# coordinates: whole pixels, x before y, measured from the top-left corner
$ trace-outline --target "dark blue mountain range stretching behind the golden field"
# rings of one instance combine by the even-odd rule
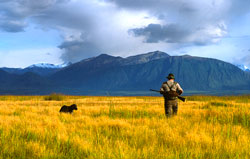
[[[1,68],[0,94],[156,95],[148,90],[159,89],[170,72],[186,95],[250,93],[250,73],[235,65],[154,51],[127,58],[101,54],[58,68]]]

